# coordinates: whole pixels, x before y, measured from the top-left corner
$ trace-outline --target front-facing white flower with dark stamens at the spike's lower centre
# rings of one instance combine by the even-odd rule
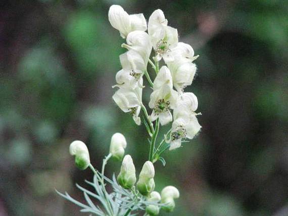
[[[149,107],[153,109],[150,116],[151,121],[155,121],[159,117],[161,125],[171,122],[170,109],[174,109],[177,97],[178,93],[173,90],[170,71],[163,66],[154,80],[153,92],[150,96]]]

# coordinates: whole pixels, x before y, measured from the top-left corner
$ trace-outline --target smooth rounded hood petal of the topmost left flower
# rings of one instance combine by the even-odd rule
[[[125,38],[131,30],[130,18],[127,12],[119,5],[112,5],[108,13],[111,25],[120,31],[120,35]]]

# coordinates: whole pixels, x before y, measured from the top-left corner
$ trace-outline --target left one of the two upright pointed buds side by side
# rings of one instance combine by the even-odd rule
[[[119,185],[125,189],[130,189],[136,182],[136,171],[132,157],[127,154],[123,158],[120,173],[117,177]]]

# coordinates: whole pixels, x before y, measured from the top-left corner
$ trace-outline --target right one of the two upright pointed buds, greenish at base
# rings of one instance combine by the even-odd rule
[[[146,161],[139,175],[139,180],[137,182],[138,191],[144,195],[148,196],[155,188],[154,183],[155,170],[151,161]]]

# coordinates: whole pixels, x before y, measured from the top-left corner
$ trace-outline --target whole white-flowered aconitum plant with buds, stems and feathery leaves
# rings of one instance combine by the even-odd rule
[[[194,79],[196,65],[193,62],[198,56],[194,56],[190,45],[178,42],[177,29],[168,26],[160,9],[152,13],[148,26],[143,14],[129,15],[118,5],[110,7],[108,18],[120,36],[126,39],[121,46],[127,49],[120,55],[122,70],[116,73],[113,87],[117,90],[113,100],[123,112],[131,114],[136,125],[145,125],[149,136],[148,160],[141,170],[137,169],[140,171],[137,178],[132,156],[125,155],[126,139],[121,133],[115,133],[110,152],[103,159],[102,170],[98,171],[90,163],[85,143],[74,141],[70,145],[70,154],[75,156],[75,165],[80,170],[89,167],[94,173],[93,181],[86,181],[94,191],[76,185],[84,193],[86,204],[73,199],[67,192],[58,193],[80,206],[81,212],[95,215],[137,215],[141,211],[145,211],[145,215],[158,215],[160,210],[173,211],[179,191],[174,186],[166,186],[160,193],[154,191],[157,172],[153,164],[159,160],[165,166],[162,153],[180,147],[183,141],[193,139],[201,129],[196,113],[198,99],[194,93],[184,92]],[[155,72],[154,80],[147,71],[148,65]],[[153,89],[148,104],[150,115],[142,102],[142,91],[147,89],[143,85],[145,78]],[[160,142],[157,141],[161,126],[167,124],[171,124],[171,129]],[[113,175],[112,179],[104,173],[111,157],[122,160],[120,171],[116,171],[119,174],[117,177]],[[108,185],[112,188],[111,193],[107,191]],[[97,200],[97,204],[91,198]]]

